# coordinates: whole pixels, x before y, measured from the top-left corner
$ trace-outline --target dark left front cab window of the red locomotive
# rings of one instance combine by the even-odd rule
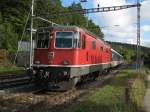
[[[48,48],[49,46],[49,39],[50,39],[49,32],[38,32],[36,36],[36,47],[37,48]]]

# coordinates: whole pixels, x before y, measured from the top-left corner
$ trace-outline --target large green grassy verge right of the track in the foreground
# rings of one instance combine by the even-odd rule
[[[125,97],[127,87],[130,88],[128,103]],[[134,70],[125,69],[107,85],[89,93],[83,101],[73,105],[68,112],[138,112],[142,110],[144,93],[143,79],[137,78]]]

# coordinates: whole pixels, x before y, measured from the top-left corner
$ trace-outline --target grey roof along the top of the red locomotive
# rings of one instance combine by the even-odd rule
[[[89,35],[93,36],[95,39],[98,39],[102,44],[110,46],[107,42],[105,42],[104,40],[101,40],[100,38],[98,38],[97,35],[93,34],[92,32],[88,31],[85,28],[80,28],[78,26],[49,26],[49,27],[41,27],[38,28],[37,31],[45,31],[45,30],[55,30],[55,29],[59,29],[59,30],[76,30],[76,31],[83,31],[88,33]]]

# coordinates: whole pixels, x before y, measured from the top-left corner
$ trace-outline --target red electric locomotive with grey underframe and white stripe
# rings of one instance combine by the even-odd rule
[[[33,54],[33,73],[38,81],[71,80],[76,84],[111,66],[110,45],[76,26],[39,28]]]

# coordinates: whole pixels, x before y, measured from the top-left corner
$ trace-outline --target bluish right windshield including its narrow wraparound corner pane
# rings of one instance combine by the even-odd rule
[[[78,33],[76,32],[56,32],[55,47],[56,48],[76,48],[79,47]]]

